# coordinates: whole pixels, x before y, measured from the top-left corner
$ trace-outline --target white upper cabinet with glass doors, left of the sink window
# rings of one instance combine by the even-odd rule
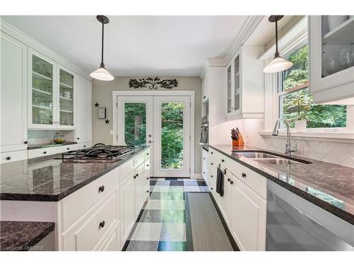
[[[263,46],[241,46],[226,67],[228,120],[263,118],[264,74],[263,61],[258,60]]]

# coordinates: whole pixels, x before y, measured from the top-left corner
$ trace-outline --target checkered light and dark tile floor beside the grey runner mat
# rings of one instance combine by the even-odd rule
[[[185,192],[209,192],[203,179],[151,178],[147,201],[123,250],[183,251],[188,249]]]

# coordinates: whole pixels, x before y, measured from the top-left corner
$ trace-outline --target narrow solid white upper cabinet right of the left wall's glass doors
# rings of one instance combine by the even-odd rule
[[[91,142],[91,81],[78,75],[75,92],[76,141]]]

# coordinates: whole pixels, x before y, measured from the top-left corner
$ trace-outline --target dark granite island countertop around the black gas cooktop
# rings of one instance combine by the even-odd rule
[[[1,165],[0,199],[59,201],[122,165],[146,146],[135,148],[115,162],[68,162],[60,154]]]

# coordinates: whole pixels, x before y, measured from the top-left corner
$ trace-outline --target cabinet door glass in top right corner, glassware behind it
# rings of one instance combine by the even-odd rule
[[[321,76],[354,67],[354,16],[321,16]]]

